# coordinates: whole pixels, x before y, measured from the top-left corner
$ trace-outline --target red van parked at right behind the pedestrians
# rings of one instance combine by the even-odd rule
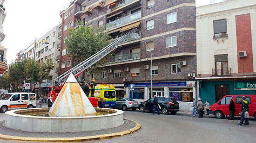
[[[245,96],[249,101],[249,116],[256,118],[256,95],[226,95],[218,102],[210,106],[210,113],[214,114],[216,118],[223,118],[229,115],[229,100],[233,99],[235,103],[235,116],[239,116],[241,112],[241,104],[239,104],[239,99]]]

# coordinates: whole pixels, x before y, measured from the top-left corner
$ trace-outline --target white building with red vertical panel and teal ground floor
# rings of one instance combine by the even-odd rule
[[[256,94],[256,1],[226,0],[196,12],[198,96],[213,104]]]

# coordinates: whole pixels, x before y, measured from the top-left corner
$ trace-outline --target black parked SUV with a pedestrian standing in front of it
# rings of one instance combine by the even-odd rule
[[[149,112],[153,112],[153,100],[154,98],[148,99],[147,101],[141,102],[139,104],[140,112],[145,112],[148,110]],[[157,97],[158,104],[161,106],[161,111],[163,114],[176,114],[179,110],[179,103],[175,98],[172,97]]]

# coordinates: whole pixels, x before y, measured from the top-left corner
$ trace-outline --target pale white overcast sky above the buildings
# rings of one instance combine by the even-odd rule
[[[16,54],[26,49],[33,40],[40,38],[54,26],[59,25],[60,10],[71,0],[5,0],[7,16],[3,23],[5,39],[1,42],[7,48],[7,64],[16,59]],[[196,0],[196,6],[209,0]]]

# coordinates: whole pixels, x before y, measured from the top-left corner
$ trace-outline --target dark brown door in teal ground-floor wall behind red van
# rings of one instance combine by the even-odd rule
[[[229,95],[229,85],[215,85],[216,102],[223,96]]]

